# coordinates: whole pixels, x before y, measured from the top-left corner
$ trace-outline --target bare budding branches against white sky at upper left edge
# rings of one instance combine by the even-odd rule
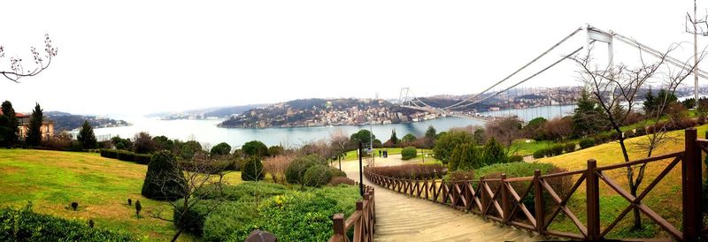
[[[51,44],[50,34],[44,34],[44,55],[40,54],[35,47],[30,48],[35,68],[25,68],[25,64],[19,57],[10,57],[10,71],[0,71],[6,79],[19,83],[23,77],[36,76],[40,72],[50,67],[52,57],[57,56],[58,48]],[[4,57],[4,47],[0,45],[0,58]]]

